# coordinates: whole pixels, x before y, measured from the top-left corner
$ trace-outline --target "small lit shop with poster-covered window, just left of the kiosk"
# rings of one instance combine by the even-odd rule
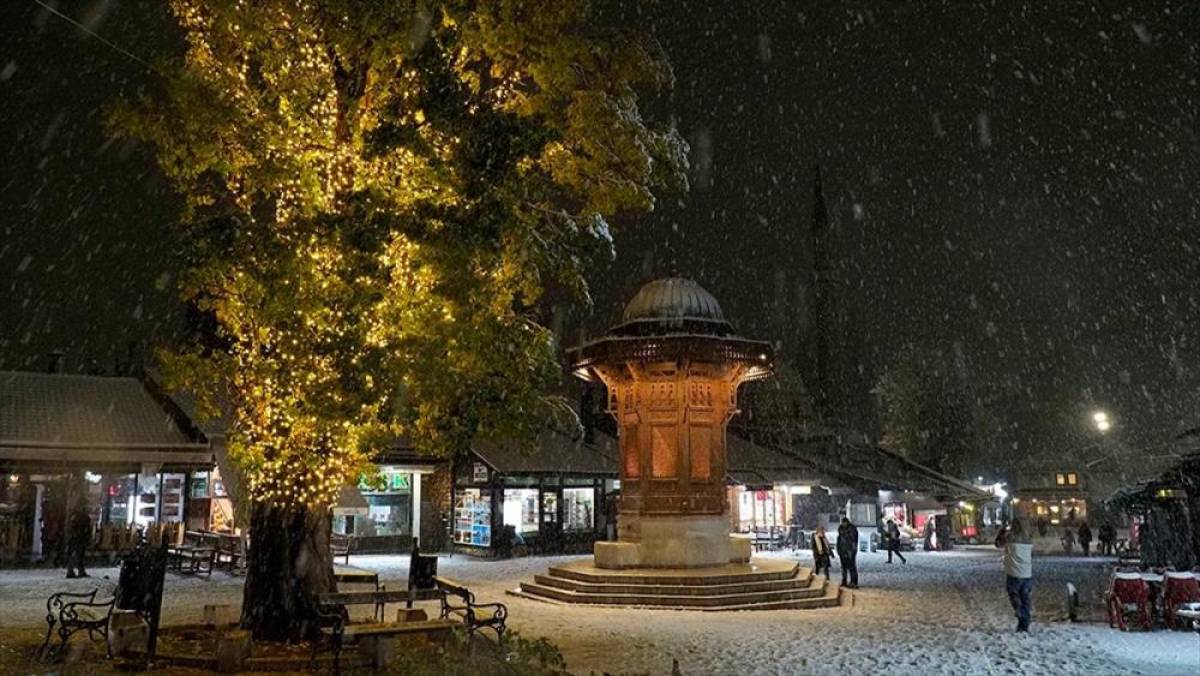
[[[606,439],[546,432],[526,451],[482,444],[473,450],[455,465],[455,549],[481,556],[590,551],[607,537],[613,518],[606,505],[619,489]]]

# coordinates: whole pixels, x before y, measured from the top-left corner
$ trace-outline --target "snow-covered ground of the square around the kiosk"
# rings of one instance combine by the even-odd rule
[[[469,584],[480,600],[506,603],[511,627],[526,636],[550,638],[580,674],[670,674],[672,659],[689,675],[1200,674],[1195,633],[1122,633],[1104,624],[1098,599],[1106,569],[1099,560],[1037,558],[1033,630],[1020,635],[1013,630],[996,550],[907,556],[907,564],[889,566],[883,555],[862,555],[862,588],[852,606],[733,614],[569,608],[505,596],[505,590],[564,558],[493,562],[455,556],[442,558],[438,567],[440,574]],[[404,556],[358,556],[350,563],[378,570],[392,588],[402,588],[407,578]],[[94,574],[115,580],[114,569]],[[52,591],[94,584],[60,575],[0,572],[0,624],[37,624]],[[1067,581],[1080,588],[1088,622],[1064,621]],[[238,578],[170,574],[166,621],[197,621],[204,604],[235,604],[240,596]]]

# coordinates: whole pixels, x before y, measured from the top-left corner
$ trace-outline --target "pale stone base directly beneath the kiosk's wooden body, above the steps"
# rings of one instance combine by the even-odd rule
[[[620,540],[595,544],[598,568],[706,568],[750,561],[750,540],[730,534],[728,518],[622,515]]]

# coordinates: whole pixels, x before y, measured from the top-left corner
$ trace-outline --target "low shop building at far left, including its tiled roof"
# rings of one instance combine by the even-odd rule
[[[7,371],[0,406],[0,561],[59,562],[80,502],[94,551],[181,537],[196,479],[212,485],[208,439],[150,382]]]

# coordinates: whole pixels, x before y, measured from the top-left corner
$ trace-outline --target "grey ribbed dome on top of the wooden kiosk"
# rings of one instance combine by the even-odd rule
[[[702,333],[715,334],[730,330],[721,305],[713,294],[683,277],[654,280],[638,289],[625,305],[620,324],[614,329],[632,328],[635,324],[700,328]]]

